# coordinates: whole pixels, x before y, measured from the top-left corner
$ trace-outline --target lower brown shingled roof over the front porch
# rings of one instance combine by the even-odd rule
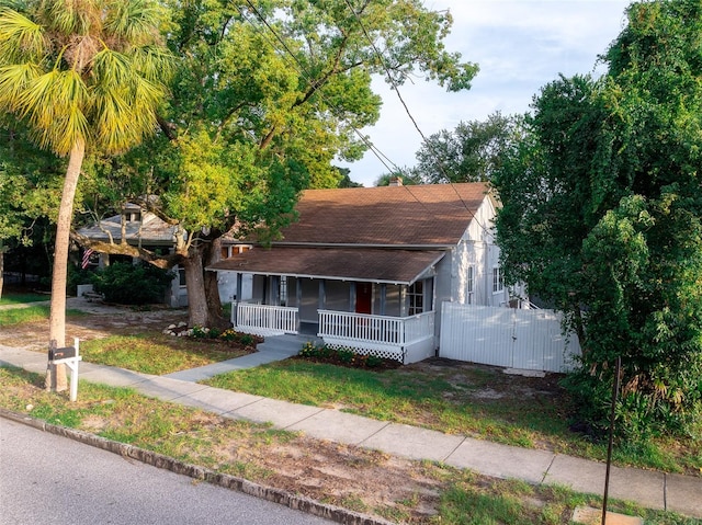
[[[443,255],[439,250],[258,248],[207,270],[409,285]]]

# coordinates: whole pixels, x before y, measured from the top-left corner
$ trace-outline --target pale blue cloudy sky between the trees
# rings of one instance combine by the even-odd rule
[[[497,111],[524,113],[541,88],[559,73],[602,72],[596,68],[598,55],[622,31],[629,4],[630,0],[424,0],[428,9],[449,9],[453,15],[446,50],[461,53],[480,70],[468,91],[449,93],[417,78],[399,93],[426,137]],[[383,79],[376,78],[373,87],[383,98],[381,118],[363,134],[395,166],[415,166],[421,135]],[[371,151],[361,161],[339,166],[349,168],[351,180],[364,186],[373,186],[389,171]]]

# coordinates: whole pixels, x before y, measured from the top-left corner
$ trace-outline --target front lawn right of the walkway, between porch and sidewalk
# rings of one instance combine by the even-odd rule
[[[557,387],[531,391],[525,388],[529,378],[506,376],[498,368],[467,366],[461,370],[408,366],[376,373],[287,359],[203,383],[449,434],[605,459],[605,443],[593,443],[568,430],[568,400]],[[619,465],[702,473],[700,440],[620,443],[614,450]]]

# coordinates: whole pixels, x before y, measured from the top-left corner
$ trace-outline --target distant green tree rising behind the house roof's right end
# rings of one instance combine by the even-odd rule
[[[521,121],[497,112],[431,135],[417,151],[411,172],[427,184],[489,181],[506,149],[520,139]]]

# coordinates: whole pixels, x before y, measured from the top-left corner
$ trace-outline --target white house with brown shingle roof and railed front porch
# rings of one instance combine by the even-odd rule
[[[435,353],[443,301],[509,306],[484,183],[308,190],[296,209],[270,249],[208,267],[252,279],[238,330],[414,363]]]

